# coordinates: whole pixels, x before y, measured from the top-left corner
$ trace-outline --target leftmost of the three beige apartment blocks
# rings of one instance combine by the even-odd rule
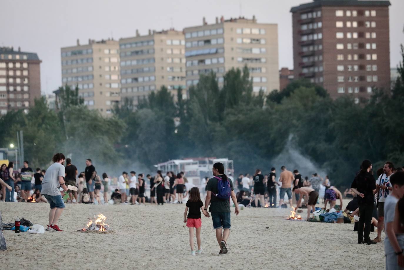
[[[61,48],[62,84],[78,86],[84,105],[108,116],[120,102],[119,43],[88,40]]]

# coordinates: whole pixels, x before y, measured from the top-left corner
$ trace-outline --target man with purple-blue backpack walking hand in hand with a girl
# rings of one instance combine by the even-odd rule
[[[210,204],[209,212],[212,215],[213,229],[216,230],[216,239],[220,247],[219,255],[227,253],[226,241],[230,235],[230,199],[223,200],[216,197],[218,193],[217,183],[219,182],[219,179],[217,179],[217,177],[222,179],[225,184],[227,183],[227,181],[229,181],[231,190],[230,197],[233,200],[234,205],[236,206],[234,213],[236,214],[236,216],[240,213],[236,194],[234,194],[233,182],[227,178],[224,171],[225,168],[222,163],[217,162],[213,164],[212,172],[215,177],[209,179],[208,184],[206,185],[207,193],[204,204],[205,210],[208,210],[208,205]]]

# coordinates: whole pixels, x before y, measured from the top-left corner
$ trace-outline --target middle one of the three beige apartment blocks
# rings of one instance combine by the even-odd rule
[[[177,98],[177,89],[185,89],[185,40],[182,31],[151,31],[148,35],[121,38],[121,99],[133,105],[163,85]],[[184,91],[185,93],[185,91]]]

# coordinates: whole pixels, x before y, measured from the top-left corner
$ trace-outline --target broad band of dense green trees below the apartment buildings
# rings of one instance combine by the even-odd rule
[[[404,53],[403,53],[404,61]],[[166,87],[133,110],[132,100],[101,117],[82,105],[77,91],[61,88],[61,110],[49,110],[43,98],[28,114],[0,118],[0,145],[24,131],[25,158],[48,164],[55,152],[77,163],[92,158],[112,168],[153,165],[173,158],[217,156],[234,160],[236,173],[286,165],[305,175],[305,163],[285,155],[293,148],[326,172],[335,185],[348,185],[363,159],[375,168],[386,160],[404,165],[404,68],[391,91],[375,89],[369,102],[332,100],[308,81],[294,81],[268,96],[253,93],[248,69],[232,69],[219,87],[214,73],[201,75],[182,100]],[[286,151],[287,153],[288,151]],[[289,151],[290,153],[290,151]],[[282,164],[280,164],[282,160]],[[35,166],[37,166],[35,165]],[[126,168],[127,170],[127,168]]]

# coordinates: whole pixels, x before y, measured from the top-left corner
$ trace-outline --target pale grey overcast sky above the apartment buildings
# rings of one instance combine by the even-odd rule
[[[0,46],[19,46],[42,60],[41,88],[51,93],[61,85],[60,48],[88,39],[130,37],[139,29],[167,29],[215,23],[240,15],[259,23],[278,24],[279,66],[293,68],[290,7],[311,0],[0,0]],[[404,43],[404,0],[390,0],[390,65],[400,61]]]

